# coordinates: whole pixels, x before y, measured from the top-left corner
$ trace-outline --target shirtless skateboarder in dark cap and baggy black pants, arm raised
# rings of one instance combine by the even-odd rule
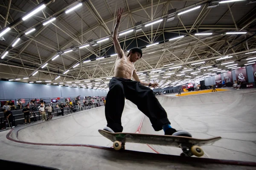
[[[160,105],[153,91],[146,87],[154,88],[158,87],[158,84],[140,82],[134,67],[134,62],[142,57],[142,50],[137,47],[132,48],[127,57],[125,56],[117,40],[122,13],[123,8],[119,8],[117,11],[116,26],[113,31],[113,42],[118,55],[116,58],[114,77],[109,82],[109,92],[106,98],[105,116],[108,125],[104,130],[122,132],[121,116],[126,98],[137,105],[138,109],[148,116],[155,131],[163,129],[165,135],[191,137],[189,132],[185,130],[177,131],[171,127],[166,111]],[[135,81],[132,81],[131,77],[133,77]]]

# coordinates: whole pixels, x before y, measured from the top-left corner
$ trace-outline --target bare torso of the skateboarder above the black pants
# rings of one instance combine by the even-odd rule
[[[134,63],[132,63],[122,51],[122,58],[116,58],[114,77],[131,79],[134,69]]]

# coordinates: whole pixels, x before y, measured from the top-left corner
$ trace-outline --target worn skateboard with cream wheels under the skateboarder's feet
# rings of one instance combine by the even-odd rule
[[[106,130],[98,130],[99,133],[113,142],[115,150],[124,150],[125,142],[155,144],[162,146],[180,147],[180,156],[203,156],[204,151],[200,146],[213,144],[221,139],[220,136],[209,139],[196,139],[185,136],[151,135],[141,133],[111,133]]]

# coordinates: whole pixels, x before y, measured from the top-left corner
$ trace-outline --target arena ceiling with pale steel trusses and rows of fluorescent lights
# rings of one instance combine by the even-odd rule
[[[163,88],[236,68],[225,62],[243,67],[256,57],[256,0],[227,1],[233,0],[1,0],[0,78],[55,85],[85,81],[92,85],[82,87],[106,90],[115,67],[111,34],[120,7],[119,34],[128,33],[118,40],[125,52],[142,48],[134,65],[143,81]]]

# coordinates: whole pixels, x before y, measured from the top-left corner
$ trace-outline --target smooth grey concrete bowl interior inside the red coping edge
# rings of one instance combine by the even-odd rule
[[[256,160],[255,99],[256,90],[237,90],[181,97],[158,97],[166,109],[172,127],[188,130],[195,138],[221,136],[213,145],[202,147],[204,157],[243,161]],[[253,100],[254,99],[254,100]],[[105,108],[74,113],[69,116],[22,128],[12,138],[44,144],[93,144],[111,147],[112,142],[98,133],[106,125]],[[124,132],[155,132],[148,118],[126,101],[122,114]],[[241,139],[242,138],[242,139]],[[127,150],[180,155],[181,150],[146,144],[126,144]]]

